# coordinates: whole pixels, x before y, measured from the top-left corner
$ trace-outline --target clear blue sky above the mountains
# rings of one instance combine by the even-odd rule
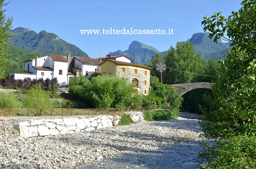
[[[241,8],[241,0],[11,0],[5,7],[13,28],[57,34],[89,57],[127,50],[133,40],[165,51],[177,41],[203,32],[202,16],[222,12],[227,17]],[[173,34],[81,34],[80,29],[173,29]],[[72,55],[72,54],[71,54]]]

